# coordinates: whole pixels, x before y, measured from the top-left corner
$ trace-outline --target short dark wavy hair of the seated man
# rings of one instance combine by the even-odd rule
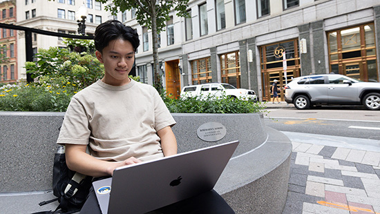
[[[95,30],[95,49],[102,52],[108,46],[108,43],[115,39],[124,39],[131,42],[135,52],[137,47],[140,46],[140,39],[136,29],[131,28],[131,26],[124,26],[123,23],[117,20],[108,20],[99,24]]]

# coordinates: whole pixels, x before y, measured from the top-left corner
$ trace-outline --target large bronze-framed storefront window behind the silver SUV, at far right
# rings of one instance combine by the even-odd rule
[[[327,32],[330,73],[379,81],[374,24]]]

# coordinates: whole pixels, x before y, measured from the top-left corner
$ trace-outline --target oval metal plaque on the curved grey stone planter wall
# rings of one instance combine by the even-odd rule
[[[202,124],[197,129],[197,135],[205,142],[216,142],[225,137],[227,130],[225,126],[217,122]]]

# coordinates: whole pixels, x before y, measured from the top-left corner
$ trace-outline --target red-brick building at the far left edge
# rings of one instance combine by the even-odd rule
[[[0,3],[0,22],[16,23],[16,1]],[[16,30],[0,28],[0,84],[11,84],[17,81],[17,32]]]

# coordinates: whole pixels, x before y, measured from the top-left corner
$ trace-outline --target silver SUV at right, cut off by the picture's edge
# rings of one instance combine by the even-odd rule
[[[298,109],[313,105],[363,105],[380,109],[380,83],[338,74],[296,77],[285,86],[285,101]]]

